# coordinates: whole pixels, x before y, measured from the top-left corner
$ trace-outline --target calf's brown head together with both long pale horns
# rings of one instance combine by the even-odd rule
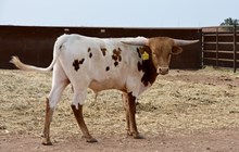
[[[168,66],[171,63],[172,55],[177,55],[183,52],[180,46],[196,43],[199,40],[179,40],[172,39],[168,37],[154,37],[154,38],[129,38],[123,40],[122,42],[135,46],[146,46],[147,53],[149,53],[150,59],[156,69],[158,74],[165,75],[168,73]]]

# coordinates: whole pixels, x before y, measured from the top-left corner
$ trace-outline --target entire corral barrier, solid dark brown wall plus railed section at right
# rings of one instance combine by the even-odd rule
[[[216,26],[202,28],[118,28],[118,27],[41,27],[0,26],[0,68],[15,68],[9,63],[12,55],[24,62],[46,67],[52,60],[55,39],[62,34],[81,34],[93,37],[168,36],[177,39],[200,39],[184,47],[185,52],[174,56],[173,68],[201,68],[204,65],[239,67],[239,27]]]

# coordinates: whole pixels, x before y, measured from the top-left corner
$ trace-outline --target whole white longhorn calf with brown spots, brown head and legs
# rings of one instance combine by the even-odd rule
[[[97,140],[89,134],[83,117],[87,88],[99,92],[117,89],[123,92],[127,134],[139,135],[136,121],[136,99],[149,88],[159,74],[168,73],[171,56],[181,53],[180,46],[198,40],[177,40],[167,37],[100,39],[80,35],[63,35],[54,43],[53,60],[47,68],[22,63],[13,56],[12,63],[21,69],[50,72],[52,88],[46,101],[42,144],[51,144],[50,122],[64,88],[74,89],[72,110],[88,142]]]

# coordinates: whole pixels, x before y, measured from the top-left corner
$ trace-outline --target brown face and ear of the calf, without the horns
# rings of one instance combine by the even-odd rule
[[[151,38],[149,39],[149,48],[156,73],[161,75],[168,73],[172,55],[183,52],[183,49],[175,46],[174,40],[171,38]]]

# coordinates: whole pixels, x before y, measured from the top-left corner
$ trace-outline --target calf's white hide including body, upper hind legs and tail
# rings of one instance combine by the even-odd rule
[[[73,104],[78,107],[83,104],[87,88],[99,92],[108,89],[117,89],[125,92],[133,92],[136,98],[150,85],[144,87],[141,83],[142,71],[138,69],[138,62],[142,63],[137,52],[138,46],[130,46],[122,41],[146,38],[112,38],[100,39],[80,35],[63,35],[58,38],[53,50],[53,61],[47,68],[40,68],[23,64],[13,58],[12,62],[18,62],[18,66],[25,69],[47,72],[52,69],[52,89],[49,94],[50,106],[55,107],[62,91],[71,83],[74,89]],[[101,49],[106,49],[103,55]],[[117,65],[112,59],[113,50],[121,49],[121,61]],[[90,58],[91,53],[91,58]],[[74,61],[81,61],[76,71]],[[15,60],[15,61],[14,61]],[[17,65],[16,65],[17,66]],[[17,67],[18,67],[17,66]],[[109,71],[106,71],[106,68]]]

